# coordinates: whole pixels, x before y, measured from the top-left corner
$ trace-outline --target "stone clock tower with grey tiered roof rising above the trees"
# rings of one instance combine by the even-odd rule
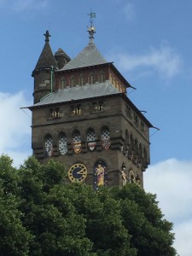
[[[99,186],[143,186],[150,162],[149,128],[153,127],[131,102],[131,88],[113,62],[94,43],[73,60],[59,49],[53,55],[49,32],[32,72],[32,149],[42,163],[50,158],[67,166],[69,181]]]

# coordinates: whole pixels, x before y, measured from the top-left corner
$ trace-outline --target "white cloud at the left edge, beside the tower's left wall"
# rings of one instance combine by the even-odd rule
[[[28,106],[22,92],[15,95],[0,92],[0,154],[8,154],[15,166],[22,163],[31,153],[31,113],[20,107]]]

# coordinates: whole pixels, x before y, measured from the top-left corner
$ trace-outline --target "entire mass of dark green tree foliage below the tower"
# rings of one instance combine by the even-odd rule
[[[173,256],[172,224],[135,184],[68,183],[65,166],[0,157],[1,255]]]

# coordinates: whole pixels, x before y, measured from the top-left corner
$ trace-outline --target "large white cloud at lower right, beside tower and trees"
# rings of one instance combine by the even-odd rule
[[[175,159],[150,166],[144,173],[145,190],[157,195],[165,218],[173,222],[177,253],[190,256],[192,245],[192,161]]]

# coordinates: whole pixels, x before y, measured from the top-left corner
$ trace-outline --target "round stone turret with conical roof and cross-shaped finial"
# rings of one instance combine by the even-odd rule
[[[32,72],[34,78],[34,103],[37,103],[44,96],[55,89],[54,71],[58,68],[55,56],[49,45],[49,31],[44,34],[45,44],[41,55],[38,58],[35,69]]]

